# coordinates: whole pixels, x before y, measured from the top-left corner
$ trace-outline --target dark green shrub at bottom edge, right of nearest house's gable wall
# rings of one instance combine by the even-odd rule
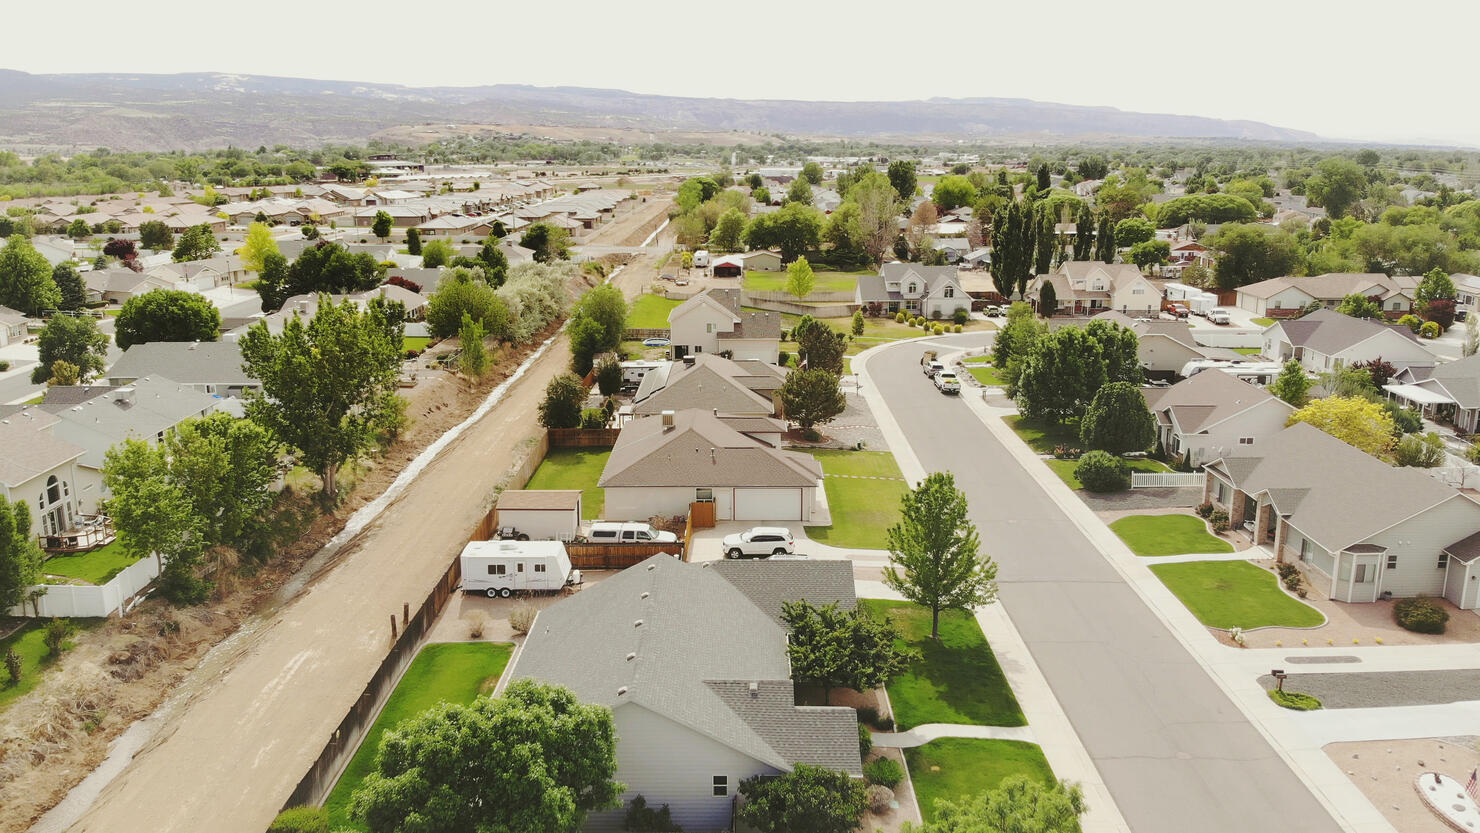
[[[759,833],[852,833],[867,809],[863,781],[847,772],[798,763],[790,772],[740,783],[736,820]]]

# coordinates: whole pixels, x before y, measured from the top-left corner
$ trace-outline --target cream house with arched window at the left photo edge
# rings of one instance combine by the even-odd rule
[[[0,494],[31,509],[31,536],[71,530],[83,515],[77,484],[83,448],[52,434],[58,422],[40,408],[0,419]]]

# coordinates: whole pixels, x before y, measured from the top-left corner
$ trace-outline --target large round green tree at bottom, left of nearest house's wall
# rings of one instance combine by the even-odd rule
[[[386,732],[351,814],[371,833],[574,833],[586,814],[620,806],[616,744],[611,709],[519,679]]]

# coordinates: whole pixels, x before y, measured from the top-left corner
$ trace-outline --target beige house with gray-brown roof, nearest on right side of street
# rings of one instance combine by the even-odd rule
[[[1205,500],[1326,598],[1480,605],[1480,503],[1305,423],[1206,466]]]

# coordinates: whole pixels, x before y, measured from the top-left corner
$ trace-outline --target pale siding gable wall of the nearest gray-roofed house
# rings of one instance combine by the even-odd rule
[[[688,833],[730,827],[740,781],[778,771],[706,735],[636,704],[616,710],[617,780],[628,786],[626,805],[641,795],[648,806],[667,805],[673,821]],[[713,795],[715,775],[728,780],[725,796]],[[592,815],[588,832],[622,830],[623,811]]]

